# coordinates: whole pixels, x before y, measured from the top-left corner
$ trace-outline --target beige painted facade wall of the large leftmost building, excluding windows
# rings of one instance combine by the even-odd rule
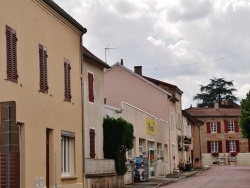
[[[16,101],[21,126],[21,187],[46,182],[46,130],[50,129],[50,185],[82,185],[80,32],[41,0],[1,1],[0,101]],[[6,25],[17,34],[18,83],[6,81]],[[39,44],[48,53],[48,94],[39,93]],[[71,65],[71,102],[64,101],[64,58]],[[75,133],[75,176],[61,177],[61,131]],[[56,173],[56,177],[55,177]]]

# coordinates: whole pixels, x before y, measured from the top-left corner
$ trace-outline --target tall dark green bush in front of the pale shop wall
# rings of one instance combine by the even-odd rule
[[[103,121],[104,158],[114,159],[116,172],[124,175],[126,168],[126,152],[133,148],[134,127],[122,118],[106,117]]]

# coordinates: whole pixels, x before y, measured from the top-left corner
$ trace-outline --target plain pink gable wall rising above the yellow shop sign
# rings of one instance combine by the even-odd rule
[[[120,64],[104,74],[104,97],[107,105],[119,107],[121,101],[126,101],[168,121],[168,95]]]

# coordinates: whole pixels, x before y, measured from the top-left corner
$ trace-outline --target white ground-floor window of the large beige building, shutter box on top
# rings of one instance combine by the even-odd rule
[[[61,169],[62,176],[75,175],[75,134],[61,132]]]

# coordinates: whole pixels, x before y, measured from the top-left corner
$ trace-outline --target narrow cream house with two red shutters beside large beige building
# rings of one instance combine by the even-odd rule
[[[114,160],[103,156],[104,69],[110,68],[83,47],[84,187],[117,187]]]

